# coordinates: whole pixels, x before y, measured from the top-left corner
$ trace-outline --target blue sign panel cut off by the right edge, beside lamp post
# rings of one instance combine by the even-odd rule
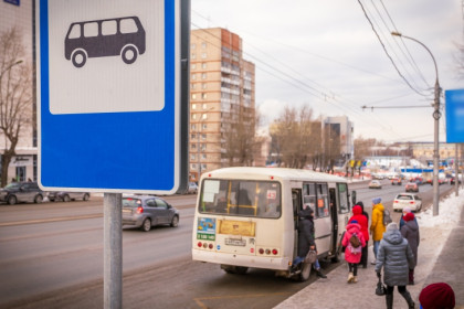
[[[464,142],[464,89],[445,90],[446,142]]]

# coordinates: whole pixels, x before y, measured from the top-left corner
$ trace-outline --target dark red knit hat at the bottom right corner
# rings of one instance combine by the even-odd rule
[[[419,296],[419,302],[423,309],[453,309],[456,305],[454,291],[445,283],[424,287]]]

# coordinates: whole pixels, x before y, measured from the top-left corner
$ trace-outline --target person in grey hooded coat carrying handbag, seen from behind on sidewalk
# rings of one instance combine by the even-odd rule
[[[393,308],[394,286],[398,286],[398,291],[408,302],[408,308],[414,308],[414,301],[407,290],[409,269],[414,268],[414,255],[408,241],[401,236],[398,224],[390,223],[380,241],[376,260],[376,273],[379,278],[383,268],[383,283],[387,285],[387,309]]]

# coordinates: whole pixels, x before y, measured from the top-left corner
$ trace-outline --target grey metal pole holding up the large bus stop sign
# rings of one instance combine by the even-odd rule
[[[123,308],[123,194],[104,193],[104,308]]]

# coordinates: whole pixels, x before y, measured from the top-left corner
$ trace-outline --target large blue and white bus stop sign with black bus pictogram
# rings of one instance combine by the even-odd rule
[[[36,0],[43,189],[168,194],[183,185],[189,19],[180,2]]]

